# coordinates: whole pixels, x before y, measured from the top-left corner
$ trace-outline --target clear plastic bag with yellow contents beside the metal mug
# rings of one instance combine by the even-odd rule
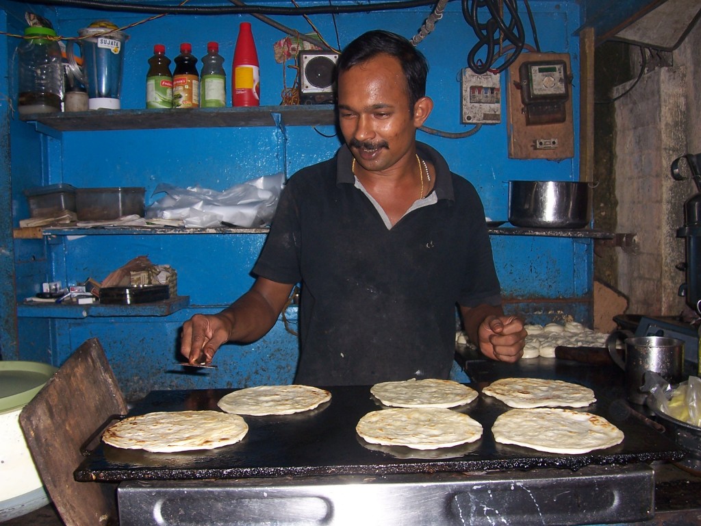
[[[670,417],[701,427],[701,379],[690,376],[687,382],[672,387],[654,372],[645,373],[644,391],[650,391],[655,407]]]

